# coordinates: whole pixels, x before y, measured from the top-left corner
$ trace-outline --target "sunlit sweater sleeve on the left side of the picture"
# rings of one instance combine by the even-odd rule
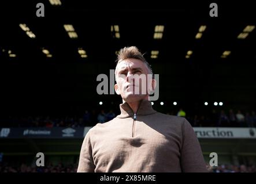
[[[81,146],[77,173],[94,173],[95,165],[92,158],[92,147],[89,132],[86,134],[86,137],[84,137],[84,141]]]

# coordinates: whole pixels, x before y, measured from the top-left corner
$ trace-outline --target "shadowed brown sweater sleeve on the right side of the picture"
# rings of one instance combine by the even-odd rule
[[[190,122],[185,118],[182,125],[182,134],[183,140],[180,156],[181,170],[185,173],[207,172],[198,138]]]

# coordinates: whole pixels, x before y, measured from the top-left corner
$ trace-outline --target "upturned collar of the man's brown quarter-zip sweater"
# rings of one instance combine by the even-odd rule
[[[118,115],[118,118],[127,118],[127,117],[132,117],[133,116],[133,110],[129,106],[127,102],[124,102],[124,104],[120,104],[120,110],[121,114]],[[137,116],[144,116],[144,115],[149,115],[149,114],[154,114],[156,111],[152,108],[151,102],[148,101],[147,99],[143,99],[140,102],[139,109],[137,112]]]

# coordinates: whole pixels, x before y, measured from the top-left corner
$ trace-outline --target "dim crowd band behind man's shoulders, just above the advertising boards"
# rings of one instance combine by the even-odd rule
[[[113,110],[105,112],[101,110],[98,113],[95,110],[89,112],[85,110],[80,116],[29,116],[29,117],[14,117],[9,116],[0,118],[0,127],[86,127],[94,126],[98,122],[104,123],[116,117]],[[173,116],[185,117],[190,122],[192,127],[256,127],[256,114],[253,110],[250,112],[242,112],[241,110],[229,109],[212,110],[209,113],[191,114],[186,113],[183,109],[178,112],[168,112]]]

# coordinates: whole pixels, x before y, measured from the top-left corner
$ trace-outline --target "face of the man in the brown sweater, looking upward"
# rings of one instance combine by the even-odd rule
[[[146,99],[149,94],[145,90],[150,85],[147,74],[149,70],[141,60],[131,58],[121,61],[116,67],[117,84],[114,86],[116,93],[128,103]],[[139,78],[142,79],[139,80]]]

